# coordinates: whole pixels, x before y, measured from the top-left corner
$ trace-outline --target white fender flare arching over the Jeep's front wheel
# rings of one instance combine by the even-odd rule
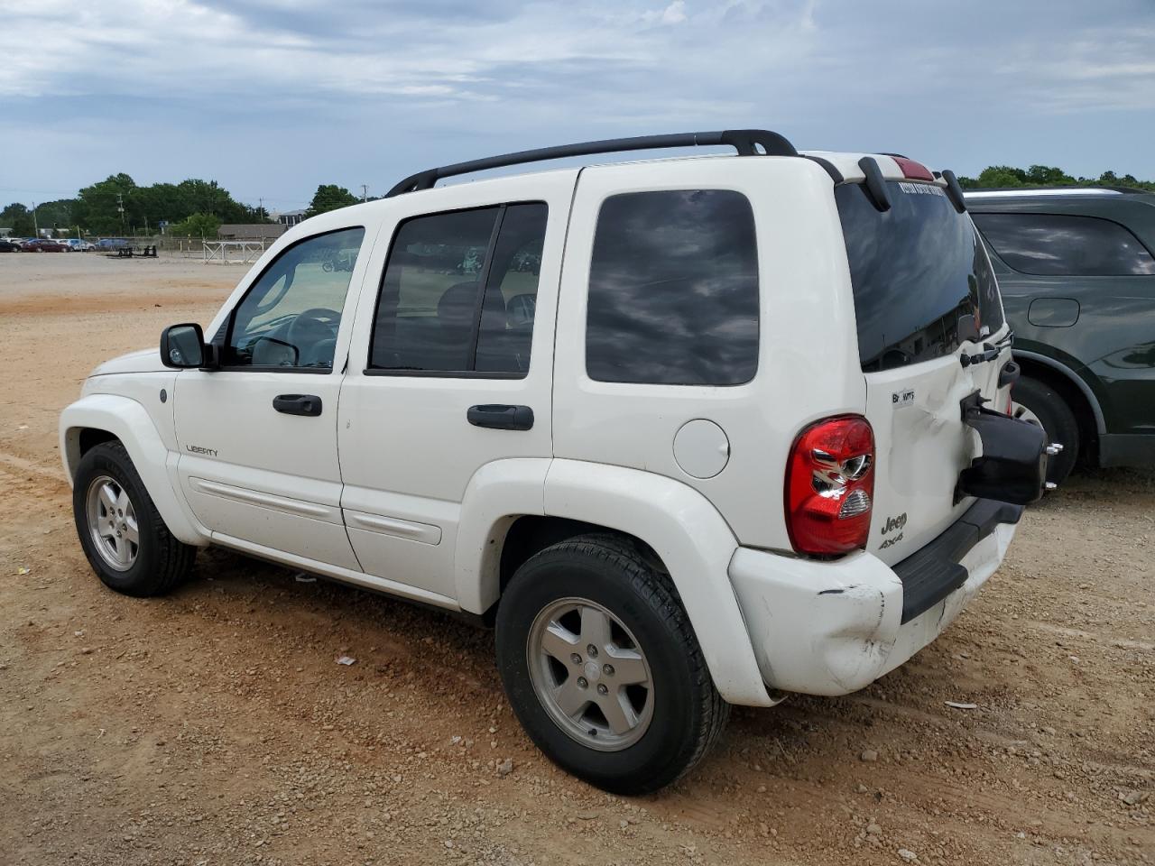
[[[75,480],[84,454],[102,442],[118,441],[128,451],[169,531],[185,544],[208,544],[208,530],[177,495],[170,477],[170,456],[174,473],[176,455],[165,447],[152,419],[135,400],[112,394],[82,397],[61,413],[59,435],[60,456],[69,484]]]

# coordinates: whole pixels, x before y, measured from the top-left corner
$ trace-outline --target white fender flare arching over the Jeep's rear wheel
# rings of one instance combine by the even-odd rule
[[[730,583],[738,543],[701,493],[625,466],[569,460],[499,465],[490,464],[493,471],[480,485],[475,478],[462,505],[472,524],[462,524],[456,546],[463,610],[490,611],[502,581],[538,550],[576,535],[611,532],[629,539],[670,575],[722,696],[747,706],[776,702],[766,689]],[[485,487],[489,497],[475,493]],[[487,512],[479,523],[475,503]]]

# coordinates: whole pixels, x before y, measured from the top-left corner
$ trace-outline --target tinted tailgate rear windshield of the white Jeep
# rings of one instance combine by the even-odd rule
[[[967,216],[931,184],[892,180],[887,187],[886,212],[862,184],[834,191],[865,372],[949,354],[959,348],[962,315],[974,315],[983,336],[1003,327],[998,284]]]

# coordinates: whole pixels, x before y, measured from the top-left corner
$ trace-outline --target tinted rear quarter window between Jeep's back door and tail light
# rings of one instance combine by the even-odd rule
[[[611,196],[594,238],[586,371],[602,382],[748,382],[758,369],[758,298],[746,196]]]

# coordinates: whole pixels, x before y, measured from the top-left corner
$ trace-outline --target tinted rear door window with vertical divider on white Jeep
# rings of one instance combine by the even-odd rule
[[[381,279],[370,372],[526,375],[546,216],[529,202],[403,223]]]

